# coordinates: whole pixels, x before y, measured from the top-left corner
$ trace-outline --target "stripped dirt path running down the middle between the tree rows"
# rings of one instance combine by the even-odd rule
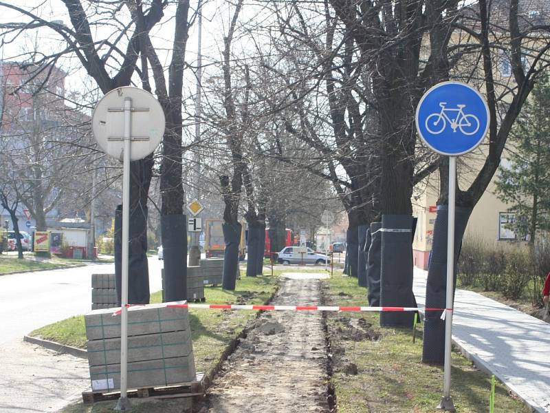
[[[320,281],[284,278],[273,304],[319,304]],[[263,313],[208,390],[209,413],[328,413],[320,313]]]

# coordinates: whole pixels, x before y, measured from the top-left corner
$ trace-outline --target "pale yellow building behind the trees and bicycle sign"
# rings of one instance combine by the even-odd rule
[[[527,30],[537,25],[550,23],[550,0],[520,0],[518,9],[518,19],[520,28]],[[475,10],[475,6],[474,6]],[[509,16],[509,1],[495,0],[492,3],[492,24],[507,27]],[[475,21],[475,19],[474,19]],[[509,39],[505,33],[494,32],[496,43],[506,47],[492,48],[493,75],[496,86],[496,95],[500,99],[497,105],[497,111],[506,111],[507,103],[510,103],[513,91],[516,88],[514,75],[511,72]],[[522,65],[524,69],[529,69],[537,53],[547,44],[547,34],[536,36],[533,34],[522,41]],[[457,30],[452,35],[451,43],[455,44],[475,44],[476,40],[470,38],[470,34],[465,31]],[[426,47],[428,43],[426,42]],[[427,52],[426,52],[427,53]],[[426,55],[427,56],[427,55]],[[548,59],[548,53],[544,59]],[[477,66],[477,69],[475,68]],[[469,81],[472,86],[479,87],[483,91],[483,73],[479,61],[462,59],[457,64],[456,73],[468,73],[472,71]],[[502,114],[498,114],[500,120]],[[508,141],[507,147],[510,142]],[[470,187],[472,180],[478,174],[485,156],[487,155],[488,145],[487,137],[476,151],[459,157],[457,162],[458,184],[461,189]],[[500,165],[507,164],[506,149],[503,152]],[[515,240],[516,234],[507,228],[507,224],[514,220],[514,214],[508,213],[509,205],[500,201],[495,194],[495,180],[498,171],[495,173],[489,186],[483,193],[483,196],[474,207],[470,220],[468,221],[464,237],[478,237],[486,243],[506,242]],[[439,173],[432,173],[428,178],[417,184],[412,194],[412,215],[418,218],[417,230],[412,244],[413,262],[415,266],[423,269],[428,268],[428,257],[432,249],[432,237],[434,223],[437,215],[437,198],[439,197]]]

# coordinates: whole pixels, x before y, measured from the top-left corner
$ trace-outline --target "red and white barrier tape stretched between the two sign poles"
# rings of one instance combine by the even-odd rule
[[[139,304],[137,305],[139,306]],[[441,311],[441,319],[445,319],[447,311],[452,308],[417,308],[417,307],[362,307],[362,306],[270,306],[252,304],[195,304],[195,303],[166,303],[164,306],[170,308],[199,308],[201,310],[263,310],[263,311],[353,311],[353,312],[401,312],[401,311]],[[128,307],[133,307],[131,304]],[[120,314],[120,310],[113,315]]]

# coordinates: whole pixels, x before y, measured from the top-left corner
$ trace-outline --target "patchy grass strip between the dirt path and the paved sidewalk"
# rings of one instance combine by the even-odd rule
[[[335,275],[326,284],[329,303],[366,304],[366,288],[358,287],[356,278]],[[443,394],[443,369],[421,363],[421,327],[417,328],[417,341],[413,344],[412,328],[380,328],[377,313],[328,313],[327,323],[339,413],[435,411]],[[366,337],[354,341],[358,330],[361,334],[366,332]],[[347,374],[350,363],[357,366],[358,374]],[[452,354],[451,377],[457,412],[489,411],[490,377],[459,352]],[[501,383],[496,385],[495,398],[496,412],[530,411],[509,396]]]

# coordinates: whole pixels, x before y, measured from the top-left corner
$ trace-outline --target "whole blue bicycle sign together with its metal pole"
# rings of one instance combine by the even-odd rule
[[[438,409],[454,412],[451,392],[451,338],[454,286],[454,210],[456,157],[474,150],[489,130],[489,107],[481,94],[465,83],[443,82],[426,92],[415,116],[417,132],[430,149],[449,157],[447,222],[447,290],[443,397]]]

